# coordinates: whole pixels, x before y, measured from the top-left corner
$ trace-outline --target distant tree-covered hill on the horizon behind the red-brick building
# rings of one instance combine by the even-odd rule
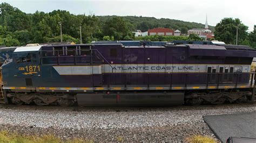
[[[103,23],[105,20],[116,16],[97,16]],[[122,16],[126,22],[129,22],[131,30],[147,31],[151,28],[165,27],[172,28],[174,30],[187,31],[192,28],[204,28],[205,25],[194,22],[184,22],[182,20],[169,19],[169,18],[154,18],[154,17],[142,17],[142,16]],[[214,26],[209,25],[210,30],[214,31]]]

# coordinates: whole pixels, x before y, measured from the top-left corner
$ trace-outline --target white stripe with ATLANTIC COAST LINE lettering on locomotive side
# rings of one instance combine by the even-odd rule
[[[53,66],[59,75],[91,75],[102,73],[207,73],[207,68],[225,69],[233,67],[233,73],[240,70],[242,73],[250,72],[251,65],[198,65],[198,64],[112,64],[99,66]]]

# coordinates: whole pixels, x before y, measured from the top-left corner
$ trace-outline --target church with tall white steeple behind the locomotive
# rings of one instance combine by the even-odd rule
[[[205,28],[193,28],[191,30],[187,31],[187,35],[190,34],[197,34],[200,38],[203,38],[205,40],[214,38],[214,34],[211,30],[208,29],[208,23],[207,23],[207,16],[206,16],[206,22],[205,22]]]

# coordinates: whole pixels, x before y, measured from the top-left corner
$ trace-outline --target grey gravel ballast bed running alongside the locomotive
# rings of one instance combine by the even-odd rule
[[[165,108],[0,106],[0,130],[93,141],[183,141],[213,135],[203,116],[256,111],[256,104]]]

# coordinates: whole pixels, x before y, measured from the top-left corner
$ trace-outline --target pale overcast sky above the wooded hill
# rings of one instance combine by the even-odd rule
[[[169,0],[169,1],[110,1],[110,0],[0,0],[26,13],[67,10],[75,15],[145,16],[178,19],[215,26],[225,17],[239,18],[253,31],[256,25],[255,0]],[[196,27],[195,27],[196,28]]]

